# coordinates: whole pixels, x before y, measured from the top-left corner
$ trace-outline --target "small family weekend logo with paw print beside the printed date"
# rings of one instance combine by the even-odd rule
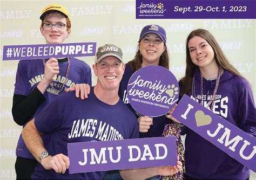
[[[164,9],[163,3],[141,3],[138,7],[138,16],[164,16]]]

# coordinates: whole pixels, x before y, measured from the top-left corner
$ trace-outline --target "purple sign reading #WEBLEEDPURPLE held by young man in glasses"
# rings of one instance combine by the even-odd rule
[[[95,56],[96,43],[4,46],[3,60]]]

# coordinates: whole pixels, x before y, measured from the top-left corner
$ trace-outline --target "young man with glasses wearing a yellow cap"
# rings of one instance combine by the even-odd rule
[[[40,19],[40,30],[46,44],[62,44],[70,36],[71,21],[64,6],[46,6]],[[83,82],[91,85],[91,68],[84,61],[73,57],[19,61],[12,106],[14,121],[25,126],[58,94]],[[51,146],[48,144],[50,135],[44,135],[43,139],[46,147]],[[22,136],[19,137],[16,156],[17,179],[31,179],[37,161],[26,148]]]

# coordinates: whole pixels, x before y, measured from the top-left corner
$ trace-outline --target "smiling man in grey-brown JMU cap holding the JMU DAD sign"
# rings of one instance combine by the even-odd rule
[[[88,98],[84,101],[76,98],[75,92],[60,95],[26,124],[22,131],[23,139],[33,156],[40,162],[32,178],[103,179],[104,171],[69,174],[67,143],[139,137],[136,116],[118,96],[124,70],[123,53],[119,47],[112,44],[99,47],[93,65],[97,84],[91,88]],[[86,120],[91,123],[86,123]],[[106,124],[106,135],[98,135],[97,131],[103,123]],[[85,128],[89,133],[78,133],[73,128],[78,128],[78,131]],[[111,133],[110,128],[114,133]],[[43,146],[41,133],[51,133],[52,146],[49,149]],[[174,167],[120,170],[120,174],[129,179],[142,179],[156,174],[170,175],[181,170],[180,165],[181,162]]]

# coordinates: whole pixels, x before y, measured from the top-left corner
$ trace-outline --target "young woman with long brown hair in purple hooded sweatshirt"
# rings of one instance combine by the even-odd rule
[[[192,31],[186,40],[186,73],[179,81],[187,94],[213,113],[256,137],[256,110],[250,82],[231,65],[210,32]],[[250,169],[187,127],[185,179],[248,179]]]

